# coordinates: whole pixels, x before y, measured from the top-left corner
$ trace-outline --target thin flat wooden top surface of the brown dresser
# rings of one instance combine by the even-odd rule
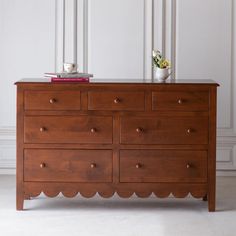
[[[155,80],[147,79],[90,79],[89,83],[75,83],[75,82],[51,82],[51,78],[27,78],[17,81],[15,84],[21,83],[44,83],[44,84],[198,84],[198,85],[215,85],[219,86],[214,80],[203,80],[203,79],[186,79],[186,80],[170,80],[167,79],[166,82],[158,82]]]

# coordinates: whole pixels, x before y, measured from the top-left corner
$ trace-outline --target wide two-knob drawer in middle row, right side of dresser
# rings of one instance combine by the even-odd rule
[[[207,117],[122,117],[122,144],[207,144]]]

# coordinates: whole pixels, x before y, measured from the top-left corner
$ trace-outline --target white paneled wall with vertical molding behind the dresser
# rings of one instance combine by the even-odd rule
[[[150,78],[151,51],[173,78],[214,79],[217,169],[236,174],[234,0],[0,0],[0,172],[15,167],[15,87],[60,71],[63,61],[97,78]],[[223,172],[222,172],[223,171]]]

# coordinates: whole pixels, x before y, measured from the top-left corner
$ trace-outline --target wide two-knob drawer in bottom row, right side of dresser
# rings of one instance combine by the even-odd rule
[[[206,151],[120,151],[120,182],[206,181]]]

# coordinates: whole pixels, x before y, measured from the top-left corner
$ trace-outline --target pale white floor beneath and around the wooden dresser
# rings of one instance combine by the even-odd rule
[[[217,178],[217,211],[187,198],[66,199],[44,196],[15,210],[15,176],[0,175],[0,235],[235,236],[236,177]]]

